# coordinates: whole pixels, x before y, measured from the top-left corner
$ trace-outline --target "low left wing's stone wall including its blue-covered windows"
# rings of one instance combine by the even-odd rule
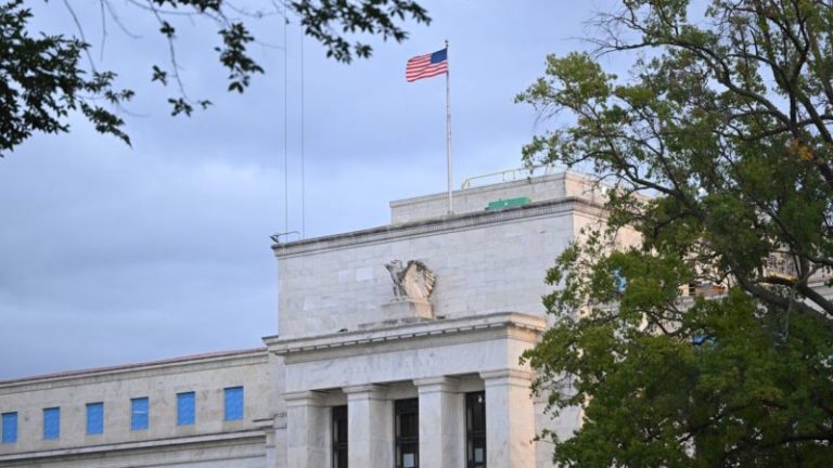
[[[261,348],[0,381],[0,413],[16,418],[14,433],[4,434],[0,443],[0,467],[21,456],[51,463],[65,455],[102,457],[114,452],[120,457],[125,450],[174,450],[207,442],[205,448],[216,452],[213,447],[236,439],[233,434],[251,439],[253,433],[260,439],[262,456],[264,429],[273,418],[273,380]],[[238,390],[236,398],[227,401],[226,389]],[[191,395],[191,410],[183,410],[190,417],[182,421],[178,393]],[[133,399],[143,400],[144,407],[133,407]],[[98,417],[90,417],[90,404],[102,408]],[[51,425],[47,410],[57,415]],[[244,445],[256,444],[247,440]]]

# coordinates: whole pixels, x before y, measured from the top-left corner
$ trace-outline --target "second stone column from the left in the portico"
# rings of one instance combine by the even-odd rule
[[[394,408],[385,387],[364,385],[343,390],[347,394],[348,465],[394,466]]]

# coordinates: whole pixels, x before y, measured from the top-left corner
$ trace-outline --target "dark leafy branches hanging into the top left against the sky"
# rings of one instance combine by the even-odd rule
[[[118,9],[111,0],[99,0],[102,24],[111,21],[124,28]],[[35,132],[69,131],[67,117],[80,112],[101,133],[115,135],[130,143],[124,120],[114,112],[133,98],[131,90],[117,89],[116,74],[98,70],[89,54],[91,44],[84,40],[84,28],[69,2],[64,5],[76,18],[78,37],[39,32],[30,34],[30,9],[23,0],[0,0],[0,157],[13,151]],[[176,82],[177,90],[168,99],[172,115],[191,115],[194,107],[207,107],[210,101],[192,100],[180,81],[176,61],[175,16],[207,20],[217,27],[219,44],[214,48],[228,73],[228,90],[243,92],[264,69],[251,56],[247,47],[255,37],[246,26],[268,15],[290,21],[297,16],[307,36],[321,42],[326,55],[349,63],[355,57],[368,57],[372,48],[355,35],[376,35],[384,40],[401,42],[408,32],[401,23],[430,23],[426,11],[413,0],[283,0],[270,3],[271,11],[247,12],[229,0],[146,0],[127,2],[142,14],[152,15],[159,32],[168,40],[170,64],[162,67],[149,64],[152,81],[167,86]],[[85,65],[82,57],[89,58]],[[102,105],[103,104],[103,105]]]

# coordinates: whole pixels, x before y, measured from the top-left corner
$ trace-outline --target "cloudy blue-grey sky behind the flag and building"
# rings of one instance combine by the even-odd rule
[[[214,26],[181,18],[187,91],[215,105],[172,118],[172,90],[149,79],[167,61],[153,20],[113,0],[137,37],[112,20],[104,34],[99,0],[69,2],[97,66],[138,92],[123,113],[133,146],[74,118],[71,134],[38,134],[0,159],[0,379],[261,346],[278,324],[270,234],[385,224],[389,200],[445,190],[445,80],[407,83],[410,56],[450,41],[459,186],[521,166],[543,127],[514,95],[546,54],[587,49],[585,22],[610,4],[426,1],[430,26],[351,65],[302,47],[296,22],[284,52],[283,25],[267,17],[253,26],[267,73],[243,95],[225,92]],[[62,2],[30,4],[33,31],[77,34]]]

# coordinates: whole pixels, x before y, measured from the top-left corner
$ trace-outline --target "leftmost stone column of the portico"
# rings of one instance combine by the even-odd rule
[[[330,415],[315,391],[284,393],[286,466],[321,468],[330,459]]]

